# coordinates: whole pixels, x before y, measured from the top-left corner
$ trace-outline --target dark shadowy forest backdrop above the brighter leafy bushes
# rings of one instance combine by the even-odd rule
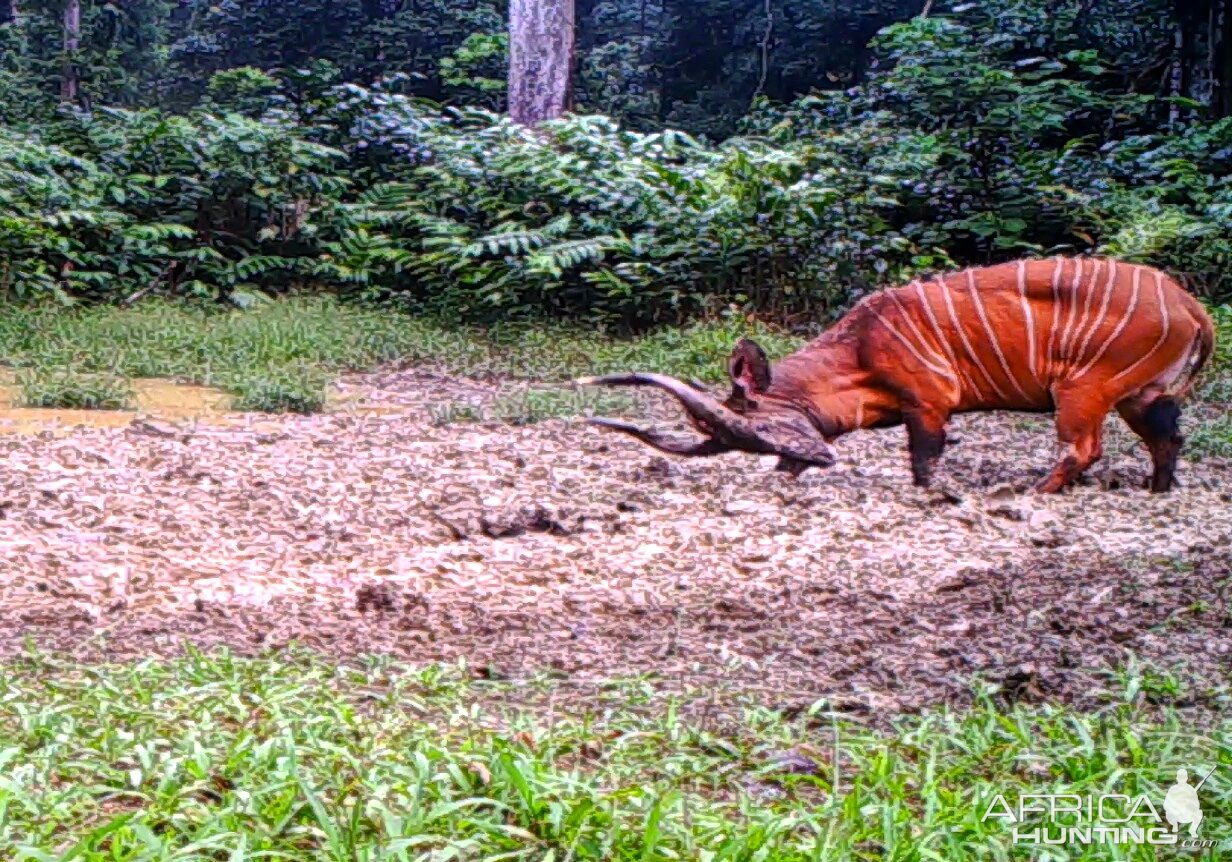
[[[643,131],[663,127],[723,137],[750,102],[791,101],[862,84],[881,59],[877,32],[918,15],[962,9],[989,16],[1027,52],[1094,49],[1101,85],[1180,95],[1228,113],[1225,0],[577,0],[577,101]],[[64,0],[2,0],[0,74],[17,84],[7,111],[48,111],[63,74]],[[400,75],[436,101],[500,108],[505,0],[83,0],[81,44],[71,59],[92,105],[186,110],[211,78],[251,66],[317,63],[339,80],[371,85]],[[1030,55],[1030,54],[1025,54]],[[1179,73],[1172,80],[1168,65]],[[38,99],[42,96],[43,99]],[[11,115],[10,115],[11,116]]]

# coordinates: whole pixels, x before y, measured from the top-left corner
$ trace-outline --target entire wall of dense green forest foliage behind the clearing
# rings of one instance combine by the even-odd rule
[[[493,112],[504,10],[478,0],[87,2],[87,113],[53,107],[59,5],[26,4],[0,26],[0,291],[637,329],[1094,251],[1232,298],[1232,118],[1214,60],[1168,53],[1173,5],[696,6],[582,4],[579,105],[615,116],[531,132]],[[1143,85],[1161,57],[1193,99]]]

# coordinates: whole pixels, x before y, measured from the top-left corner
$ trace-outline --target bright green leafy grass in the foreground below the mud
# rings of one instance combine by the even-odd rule
[[[31,658],[0,665],[0,858],[1026,858],[983,820],[995,793],[1159,800],[1216,762],[1202,835],[1227,839],[1232,720],[1146,712],[1141,677],[1121,683],[1095,714],[981,701],[878,733],[823,704],[687,712],[646,681],[579,697],[294,653]]]

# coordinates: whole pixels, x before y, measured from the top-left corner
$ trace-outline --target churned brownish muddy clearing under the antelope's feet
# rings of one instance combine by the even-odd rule
[[[510,387],[391,371],[347,378],[326,415],[0,436],[0,649],[294,640],[875,714],[962,702],[976,677],[1082,701],[1130,653],[1199,697],[1232,674],[1226,462],[1148,495],[1110,420],[1085,484],[1039,499],[1047,422],[965,417],[945,495],[910,488],[901,430],[796,480],[572,421],[436,421]]]

